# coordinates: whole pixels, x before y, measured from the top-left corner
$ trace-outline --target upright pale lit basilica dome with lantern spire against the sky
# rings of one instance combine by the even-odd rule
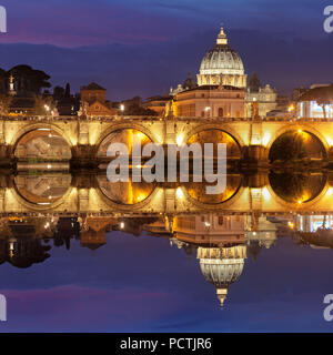
[[[216,44],[205,53],[200,65],[199,85],[232,85],[246,87],[246,75],[241,57],[228,44],[223,28],[216,39]]]

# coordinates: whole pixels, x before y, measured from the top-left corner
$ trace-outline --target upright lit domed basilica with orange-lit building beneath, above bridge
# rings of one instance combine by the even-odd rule
[[[240,55],[228,44],[223,28],[213,49],[205,53],[196,75],[172,89],[172,114],[189,118],[245,116],[246,75]]]

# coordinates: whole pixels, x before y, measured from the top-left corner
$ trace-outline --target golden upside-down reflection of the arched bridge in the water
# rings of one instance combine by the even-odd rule
[[[0,178],[0,215],[59,216],[174,215],[179,213],[221,212],[264,215],[333,213],[332,176],[324,172],[256,174],[229,172],[226,187],[208,194],[206,183],[111,183],[105,171],[72,175],[53,166],[20,171]]]

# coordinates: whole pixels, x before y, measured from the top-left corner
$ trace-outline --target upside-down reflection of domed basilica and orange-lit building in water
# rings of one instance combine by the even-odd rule
[[[215,286],[223,307],[228,288],[241,276],[246,258],[245,217],[213,214],[176,216],[173,231],[175,239],[172,243],[179,248],[191,251],[190,245],[198,246],[201,272]]]

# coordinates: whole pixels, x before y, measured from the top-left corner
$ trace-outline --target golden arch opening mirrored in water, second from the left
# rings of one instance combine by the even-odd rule
[[[98,176],[102,193],[112,202],[132,205],[149,197],[154,184],[142,182],[110,182],[107,176]]]

